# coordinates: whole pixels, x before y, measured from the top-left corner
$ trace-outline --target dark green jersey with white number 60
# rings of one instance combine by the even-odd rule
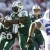
[[[16,26],[14,27],[14,25],[7,27],[7,28],[4,27],[4,25],[1,26],[0,35],[1,35],[2,39],[11,40],[11,39],[15,38],[15,34],[17,33],[15,28],[16,28]]]

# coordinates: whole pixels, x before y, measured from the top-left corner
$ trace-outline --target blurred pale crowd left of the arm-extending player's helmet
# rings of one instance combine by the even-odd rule
[[[10,15],[12,9],[11,5],[15,0],[0,0],[0,13],[5,15]]]

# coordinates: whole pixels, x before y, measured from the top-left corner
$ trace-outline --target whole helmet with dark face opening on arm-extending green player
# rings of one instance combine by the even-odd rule
[[[23,4],[21,1],[15,1],[13,2],[12,4],[12,10],[14,12],[18,12],[18,11],[21,11],[23,9]]]

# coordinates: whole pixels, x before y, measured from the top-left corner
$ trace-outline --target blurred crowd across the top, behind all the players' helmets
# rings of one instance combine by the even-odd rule
[[[10,15],[12,12],[12,3],[16,0],[0,0],[0,13],[5,15]],[[29,10],[32,13],[32,6],[38,4],[41,7],[42,14],[45,10],[50,8],[50,0],[21,0],[24,5],[25,10]]]

